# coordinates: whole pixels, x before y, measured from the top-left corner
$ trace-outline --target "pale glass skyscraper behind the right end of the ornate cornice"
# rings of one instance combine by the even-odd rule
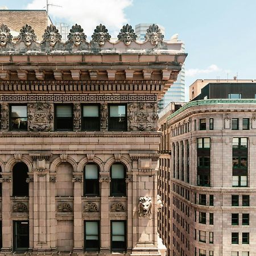
[[[144,36],[148,27],[151,24],[139,23],[135,26],[135,34],[138,35],[138,40],[144,40]],[[162,34],[165,34],[165,28],[158,25]],[[164,40],[167,40],[164,38]],[[179,42],[177,38],[171,39],[172,42]],[[168,41],[168,40],[167,40]],[[182,44],[182,50],[185,52],[184,44]],[[184,102],[185,101],[185,67],[181,68],[179,75],[177,76],[177,81],[168,88],[167,92],[164,94],[163,98],[158,102],[158,112],[160,113],[170,102]]]

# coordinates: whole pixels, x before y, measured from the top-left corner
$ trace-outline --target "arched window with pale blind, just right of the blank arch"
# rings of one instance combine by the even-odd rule
[[[100,195],[97,164],[86,164],[84,167],[84,196]]]

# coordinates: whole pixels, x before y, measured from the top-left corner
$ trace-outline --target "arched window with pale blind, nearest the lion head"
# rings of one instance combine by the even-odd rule
[[[111,196],[126,196],[126,170],[121,163],[114,163],[110,170],[110,195]]]

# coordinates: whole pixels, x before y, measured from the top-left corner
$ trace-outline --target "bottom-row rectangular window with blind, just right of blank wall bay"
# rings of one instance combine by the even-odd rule
[[[84,221],[84,248],[85,251],[100,250],[100,225],[99,221]]]

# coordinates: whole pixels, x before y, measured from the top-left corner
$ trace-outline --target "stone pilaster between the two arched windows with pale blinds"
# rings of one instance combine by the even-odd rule
[[[109,225],[109,172],[100,172],[99,182],[101,183],[101,252],[110,251],[110,225]]]

